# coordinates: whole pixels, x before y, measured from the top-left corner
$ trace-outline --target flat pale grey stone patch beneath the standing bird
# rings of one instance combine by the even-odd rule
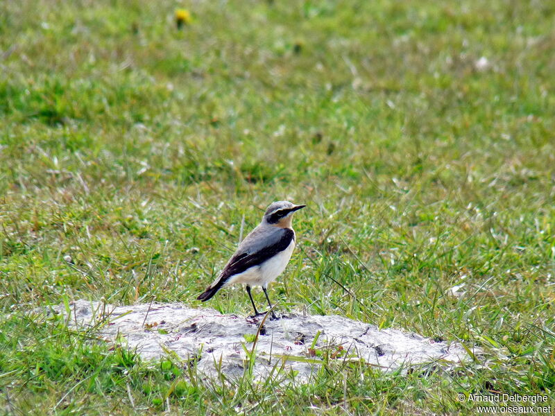
[[[64,313],[65,307],[53,308]],[[214,309],[193,309],[182,304],[137,304],[110,306],[101,302],[78,300],[70,304],[70,325],[98,325],[99,336],[126,339],[128,347],[137,348],[143,358],[160,358],[168,352],[195,362],[198,371],[216,376],[216,366],[228,377],[241,376],[247,367],[245,348],[253,343],[244,334],[257,333],[259,322],[237,315],[222,315]],[[262,321],[262,318],[259,320]],[[278,365],[296,374],[296,382],[306,382],[318,372],[322,356],[309,351],[320,332],[314,349],[327,351],[331,360],[360,360],[383,371],[415,365],[454,365],[468,360],[459,343],[436,343],[415,333],[398,329],[379,330],[337,315],[289,315],[280,320],[266,320],[256,345],[253,367],[255,379],[264,379]],[[340,346],[343,347],[342,351]],[[334,355],[335,353],[335,355]],[[287,358],[285,358],[287,357]],[[270,359],[271,358],[271,359]],[[278,370],[276,368],[273,374]]]

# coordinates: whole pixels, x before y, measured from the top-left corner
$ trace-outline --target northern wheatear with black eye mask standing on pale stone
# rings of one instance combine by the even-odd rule
[[[244,283],[250,302],[258,313],[250,286],[262,286],[268,305],[268,284],[281,275],[295,248],[295,232],[291,227],[293,212],[306,205],[293,205],[288,201],[273,202],[262,217],[262,222],[239,244],[239,248],[214,280],[197,299],[206,302],[224,286]],[[276,318],[272,311],[272,318]]]

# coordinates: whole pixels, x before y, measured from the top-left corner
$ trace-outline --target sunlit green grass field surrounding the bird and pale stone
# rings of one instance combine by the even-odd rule
[[[1,1],[0,413],[555,409],[554,27],[552,1]],[[201,307],[241,222],[283,199],[308,207],[278,310],[486,356],[226,384],[31,313]],[[250,313],[241,288],[202,306]]]

